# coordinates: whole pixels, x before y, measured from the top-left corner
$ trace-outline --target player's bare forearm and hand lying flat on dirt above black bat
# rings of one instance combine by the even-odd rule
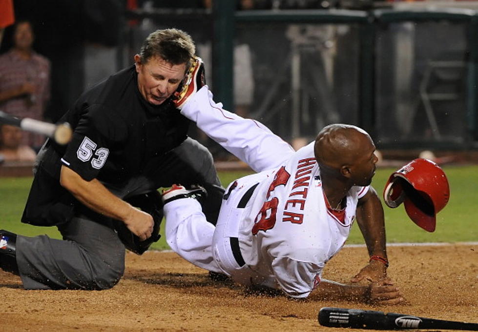
[[[405,302],[400,290],[383,279],[367,286],[345,285],[323,279],[308,297],[311,300],[345,300],[378,305]]]

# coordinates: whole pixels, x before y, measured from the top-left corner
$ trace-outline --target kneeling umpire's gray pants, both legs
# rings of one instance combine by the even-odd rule
[[[124,186],[105,184],[121,198],[147,193],[172,183],[198,183],[208,190],[204,209],[215,224],[224,189],[212,156],[188,138],[181,146],[145,165],[145,172]],[[86,216],[88,215],[88,216]],[[125,246],[114,230],[114,220],[95,213],[78,213],[59,225],[63,240],[46,235],[17,237],[17,264],[25,289],[103,290],[113,287],[125,271]]]

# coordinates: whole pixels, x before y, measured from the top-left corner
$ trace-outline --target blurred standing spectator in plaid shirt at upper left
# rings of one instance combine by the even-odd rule
[[[0,56],[0,109],[17,117],[43,120],[50,98],[50,61],[32,49],[33,40],[31,23],[17,21],[14,46]],[[22,144],[38,149],[44,139],[38,134],[24,133]]]

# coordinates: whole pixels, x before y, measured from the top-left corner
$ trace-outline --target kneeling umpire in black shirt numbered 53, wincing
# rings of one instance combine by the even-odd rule
[[[224,190],[212,156],[187,137],[189,120],[171,100],[194,53],[185,32],[157,30],[133,66],[84,92],[62,118],[73,138],[43,146],[21,221],[56,225],[63,240],[0,231],[0,267],[25,289],[113,287],[125,248],[142,254],[159,239],[159,187],[204,186],[205,213],[217,220]]]

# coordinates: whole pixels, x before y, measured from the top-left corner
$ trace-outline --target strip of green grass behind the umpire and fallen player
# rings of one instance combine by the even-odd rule
[[[464,242],[478,241],[478,212],[475,209],[478,166],[450,166],[444,168],[450,181],[450,202],[437,216],[436,231],[428,233],[416,226],[406,215],[403,206],[390,209],[384,205],[387,242]],[[388,176],[395,169],[378,169],[373,186],[381,196]],[[245,172],[221,172],[224,186]],[[31,184],[31,177],[0,178],[0,228],[27,236],[47,234],[60,238],[55,227],[35,227],[20,222]],[[164,223],[163,223],[164,226]],[[164,229],[161,234],[164,234]],[[356,224],[348,243],[363,243]],[[154,243],[154,249],[167,249],[164,237]]]

